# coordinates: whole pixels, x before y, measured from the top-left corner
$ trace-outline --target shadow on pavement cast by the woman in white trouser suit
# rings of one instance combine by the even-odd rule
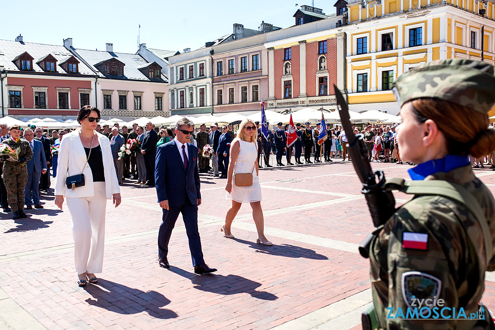
[[[115,313],[129,315],[147,312],[149,316],[157,319],[173,319],[178,316],[170,309],[161,308],[168,305],[170,300],[156,291],[145,292],[101,279],[97,284],[88,283],[84,289],[93,296],[86,299],[88,304]],[[123,302],[122,298],[126,302]],[[131,302],[128,302],[129,300]]]

